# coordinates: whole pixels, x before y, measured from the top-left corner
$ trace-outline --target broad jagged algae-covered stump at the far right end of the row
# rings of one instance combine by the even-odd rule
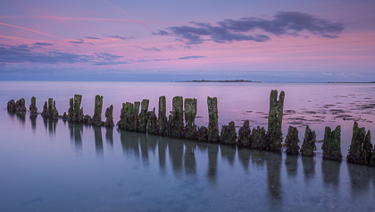
[[[359,128],[354,122],[352,142],[350,144],[346,160],[357,164],[369,164],[372,144],[370,131],[366,134],[364,127]]]

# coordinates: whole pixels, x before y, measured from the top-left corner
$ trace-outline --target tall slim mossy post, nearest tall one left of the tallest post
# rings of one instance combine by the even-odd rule
[[[219,115],[218,115],[218,99],[207,97],[208,106],[208,138],[209,142],[219,142]]]

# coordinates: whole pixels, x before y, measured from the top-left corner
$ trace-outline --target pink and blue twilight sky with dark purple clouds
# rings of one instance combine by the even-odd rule
[[[373,0],[12,0],[3,81],[375,81]]]

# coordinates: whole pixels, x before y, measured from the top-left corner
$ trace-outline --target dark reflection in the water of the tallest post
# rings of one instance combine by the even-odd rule
[[[267,165],[268,194],[271,208],[277,209],[282,202],[280,180],[282,156],[279,153],[270,153],[269,157],[265,158]]]

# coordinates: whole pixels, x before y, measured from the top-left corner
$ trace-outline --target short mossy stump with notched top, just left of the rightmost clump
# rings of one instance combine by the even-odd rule
[[[321,145],[323,158],[332,160],[342,160],[341,155],[341,127],[338,125],[334,131],[326,127],[324,141]]]

